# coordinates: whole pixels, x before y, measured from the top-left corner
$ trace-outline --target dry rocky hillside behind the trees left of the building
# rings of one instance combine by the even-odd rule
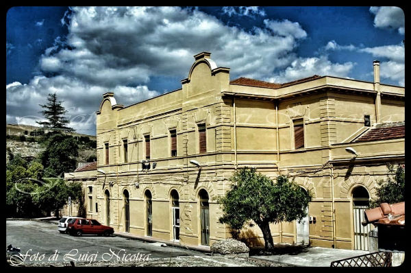
[[[47,129],[37,126],[7,124],[5,128],[6,163],[8,163],[10,152],[12,154],[21,154],[28,161],[38,158],[46,148],[47,132]],[[76,132],[67,134],[75,137],[78,141],[79,156],[76,158],[77,164],[90,162],[93,161],[93,158],[96,158],[97,138],[95,136]]]

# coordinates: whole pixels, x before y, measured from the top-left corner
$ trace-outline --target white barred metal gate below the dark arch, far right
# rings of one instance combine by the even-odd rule
[[[370,231],[369,226],[362,226],[361,222],[364,221],[364,211],[369,209],[369,206],[359,206],[353,204],[353,215],[354,215],[354,249],[355,250],[369,250],[368,246],[368,233]]]

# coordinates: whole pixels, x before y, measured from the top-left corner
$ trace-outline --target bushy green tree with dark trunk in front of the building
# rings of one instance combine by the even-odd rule
[[[245,167],[238,169],[230,180],[232,189],[217,198],[223,209],[219,222],[228,224],[237,233],[246,224],[257,224],[264,237],[265,251],[274,247],[270,223],[292,222],[306,217],[310,193],[307,195],[286,176],[278,176],[277,182],[273,182],[257,173],[255,168]]]

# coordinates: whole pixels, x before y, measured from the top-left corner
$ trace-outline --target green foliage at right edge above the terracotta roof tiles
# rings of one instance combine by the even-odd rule
[[[388,175],[386,180],[377,182],[376,195],[370,202],[371,208],[381,203],[394,204],[406,200],[406,169],[405,165],[388,164]]]

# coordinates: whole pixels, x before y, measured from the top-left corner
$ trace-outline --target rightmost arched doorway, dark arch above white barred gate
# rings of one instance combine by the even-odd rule
[[[352,191],[355,250],[369,250],[368,233],[370,225],[362,226],[361,224],[364,221],[364,211],[369,209],[369,198],[368,191],[362,186],[358,186]]]

